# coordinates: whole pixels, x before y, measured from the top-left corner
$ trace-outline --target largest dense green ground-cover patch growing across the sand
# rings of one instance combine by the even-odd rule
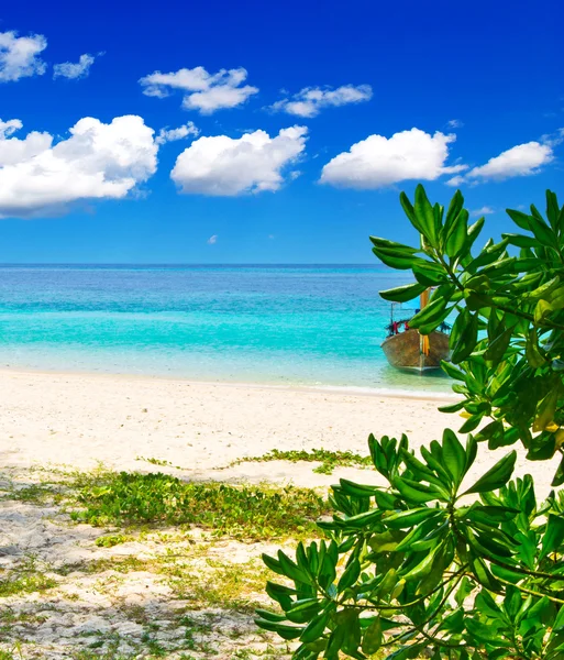
[[[185,483],[167,474],[106,473],[81,480],[75,520],[95,526],[196,525],[250,540],[314,535],[329,513],[309,488]]]

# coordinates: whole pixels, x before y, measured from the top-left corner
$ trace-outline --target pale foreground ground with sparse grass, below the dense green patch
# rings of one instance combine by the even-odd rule
[[[289,657],[253,623],[279,543],[76,524],[65,488],[0,477],[0,660]]]

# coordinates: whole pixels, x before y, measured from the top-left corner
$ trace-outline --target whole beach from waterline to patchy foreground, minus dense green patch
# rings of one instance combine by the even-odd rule
[[[385,485],[369,465],[328,474],[313,462],[245,459],[319,449],[366,457],[371,432],[405,431],[418,451],[445,425],[460,426],[460,417],[438,410],[452,400],[420,391],[0,371],[0,606],[9,622],[0,649],[18,647],[26,660],[151,658],[155,649],[170,660],[289,660],[290,647],[253,618],[256,607],[273,606],[264,591],[273,575],[261,557],[280,547],[291,556],[291,535],[270,538],[268,525],[258,525],[254,539],[218,535],[199,516],[190,526],[92,525],[74,520],[73,509],[111,492],[120,477],[108,470],[142,480],[165,473],[146,477],[163,484],[168,475],[204,488],[225,484],[220,492],[236,485],[256,503],[269,493],[325,496],[340,479]],[[480,448],[465,483],[508,451]],[[515,474],[532,473],[540,497],[554,470],[527,462],[519,449]],[[88,483],[106,486],[88,495]],[[253,526],[253,516],[246,520]]]

